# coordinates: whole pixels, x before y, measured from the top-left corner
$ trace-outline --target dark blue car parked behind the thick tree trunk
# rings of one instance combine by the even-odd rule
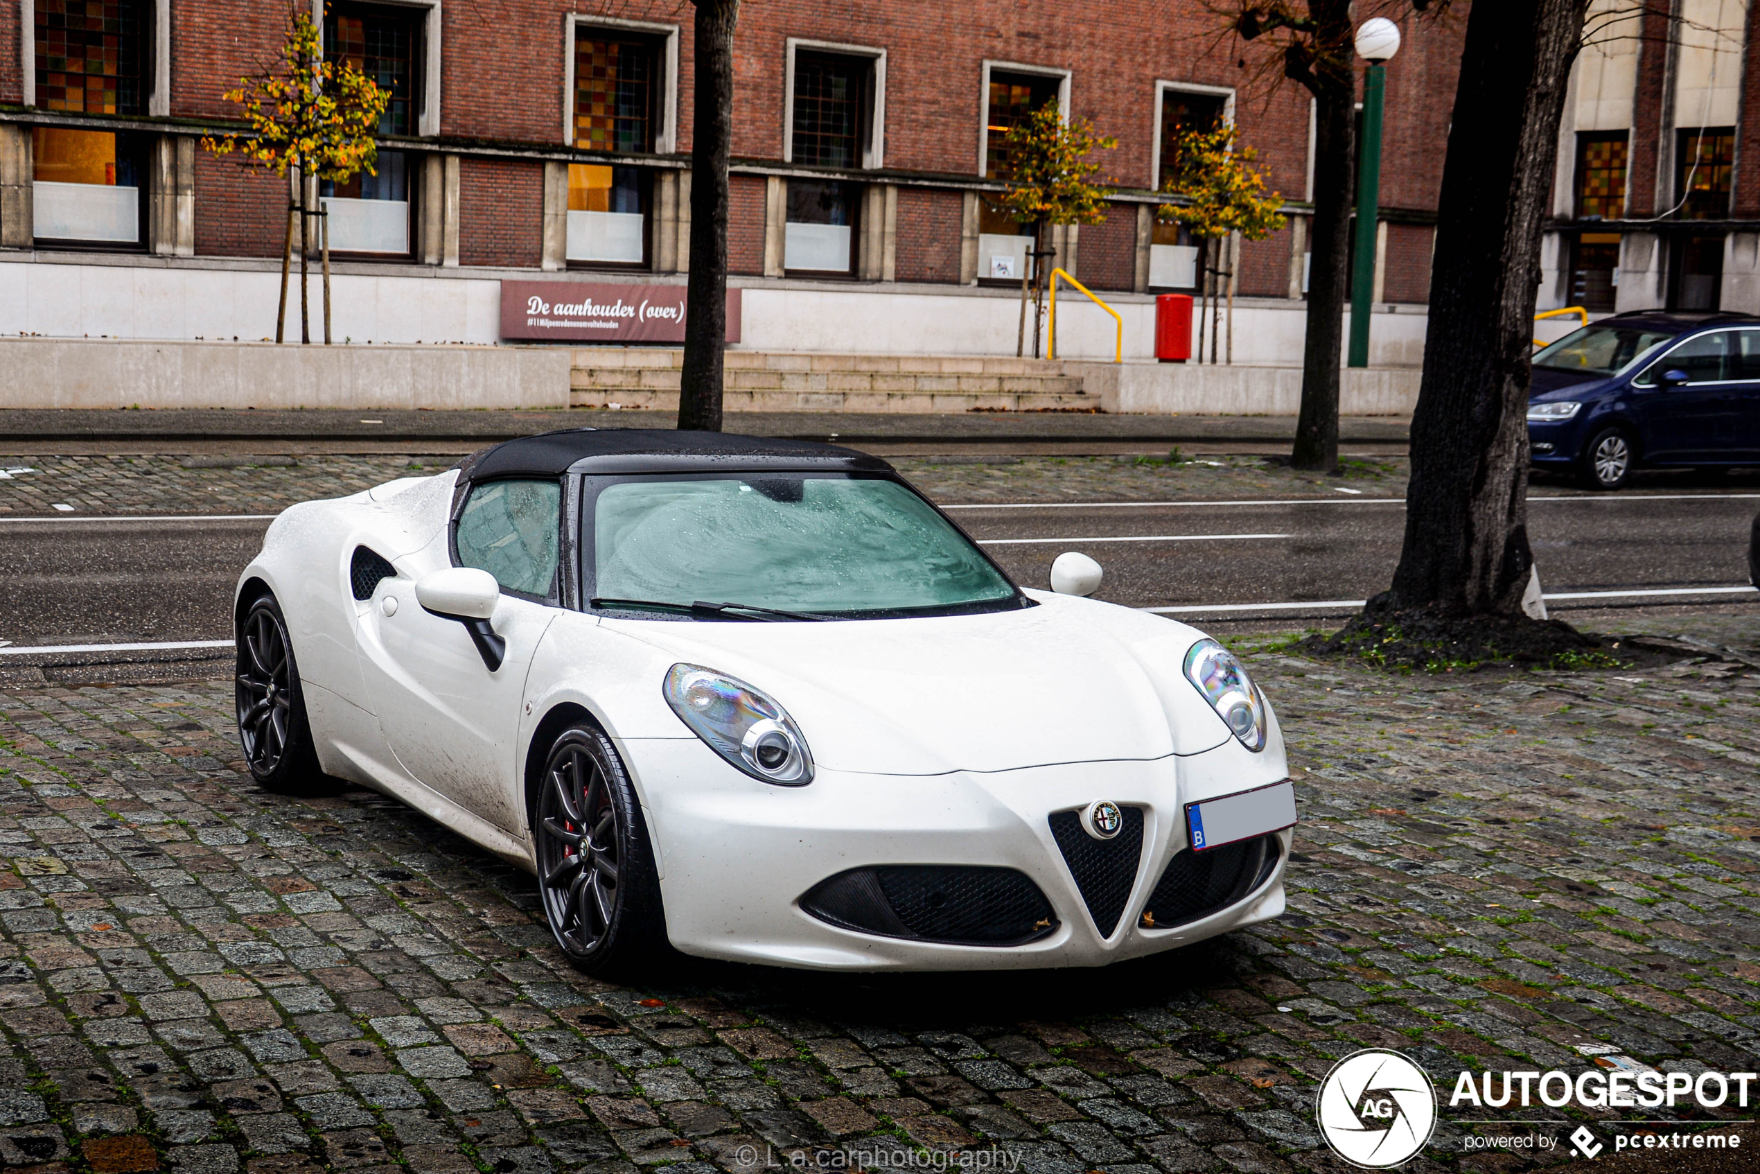
[[[1535,468],[1617,489],[1639,466],[1760,465],[1760,319],[1619,313],[1533,357]]]

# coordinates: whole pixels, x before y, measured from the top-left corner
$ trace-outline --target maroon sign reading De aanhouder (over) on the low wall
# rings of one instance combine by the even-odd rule
[[[681,343],[685,287],[502,282],[502,338],[556,343]],[[727,290],[727,341],[739,341],[739,290]]]

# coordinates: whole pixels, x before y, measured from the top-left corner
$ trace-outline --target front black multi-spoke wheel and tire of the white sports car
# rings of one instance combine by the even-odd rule
[[[642,804],[605,732],[551,743],[532,803],[539,896],[556,945],[581,970],[639,970],[669,952]]]

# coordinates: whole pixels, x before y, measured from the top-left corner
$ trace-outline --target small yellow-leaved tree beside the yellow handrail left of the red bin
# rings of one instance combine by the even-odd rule
[[[1017,224],[1033,225],[1033,255],[1056,262],[1054,252],[1045,252],[1045,225],[1100,224],[1105,220],[1107,188],[1095,183],[1102,164],[1095,151],[1118,146],[1112,136],[1102,136],[1086,118],[1063,121],[1056,100],[1045,102],[1024,120],[1008,128],[1005,144],[1005,174],[1008,185],[996,201]],[[1052,266],[1031,266],[1031,278],[1021,273],[1021,327],[1016,338],[1016,357],[1026,352],[1028,282],[1035,283],[1033,297],[1033,354],[1038,354],[1038,320],[1045,297],[1045,276]]]

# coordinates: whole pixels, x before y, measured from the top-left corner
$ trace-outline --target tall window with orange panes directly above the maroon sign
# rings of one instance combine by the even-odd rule
[[[648,155],[660,127],[664,42],[581,28],[574,39],[574,144],[609,155]],[[568,165],[563,255],[590,266],[648,262],[653,176],[621,164]]]

